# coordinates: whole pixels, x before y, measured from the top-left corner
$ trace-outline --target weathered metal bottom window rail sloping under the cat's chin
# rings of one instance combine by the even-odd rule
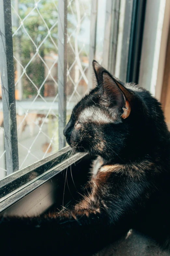
[[[0,213],[37,187],[81,160],[87,153],[71,154],[69,146],[0,180]]]

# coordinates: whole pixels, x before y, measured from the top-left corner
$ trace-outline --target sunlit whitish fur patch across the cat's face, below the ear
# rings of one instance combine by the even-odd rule
[[[80,123],[87,122],[87,121],[104,123],[104,124],[114,122],[114,119],[106,116],[106,114],[100,108],[92,108],[92,107],[84,109],[80,113],[78,120],[80,121]]]

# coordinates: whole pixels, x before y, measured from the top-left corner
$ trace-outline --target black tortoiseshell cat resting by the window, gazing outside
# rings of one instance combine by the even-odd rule
[[[1,253],[90,256],[130,229],[170,249],[170,133],[161,105],[95,60],[92,66],[97,85],[64,128],[77,152],[97,155],[84,195],[64,212],[1,217]]]

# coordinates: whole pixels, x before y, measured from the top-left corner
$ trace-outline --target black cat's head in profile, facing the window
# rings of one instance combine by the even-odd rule
[[[111,76],[96,61],[93,69],[97,86],[74,107],[64,136],[79,152],[126,161],[145,150],[155,127],[151,108],[157,104],[159,112],[159,103],[137,85]]]

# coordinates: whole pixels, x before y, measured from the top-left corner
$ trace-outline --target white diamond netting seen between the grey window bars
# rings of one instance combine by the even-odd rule
[[[57,4],[11,1],[20,169],[58,150]],[[91,1],[68,1],[67,119],[87,91],[88,44],[81,33],[83,24],[90,28],[90,6]],[[5,150],[1,158],[5,162]],[[5,165],[1,171],[5,176]]]

